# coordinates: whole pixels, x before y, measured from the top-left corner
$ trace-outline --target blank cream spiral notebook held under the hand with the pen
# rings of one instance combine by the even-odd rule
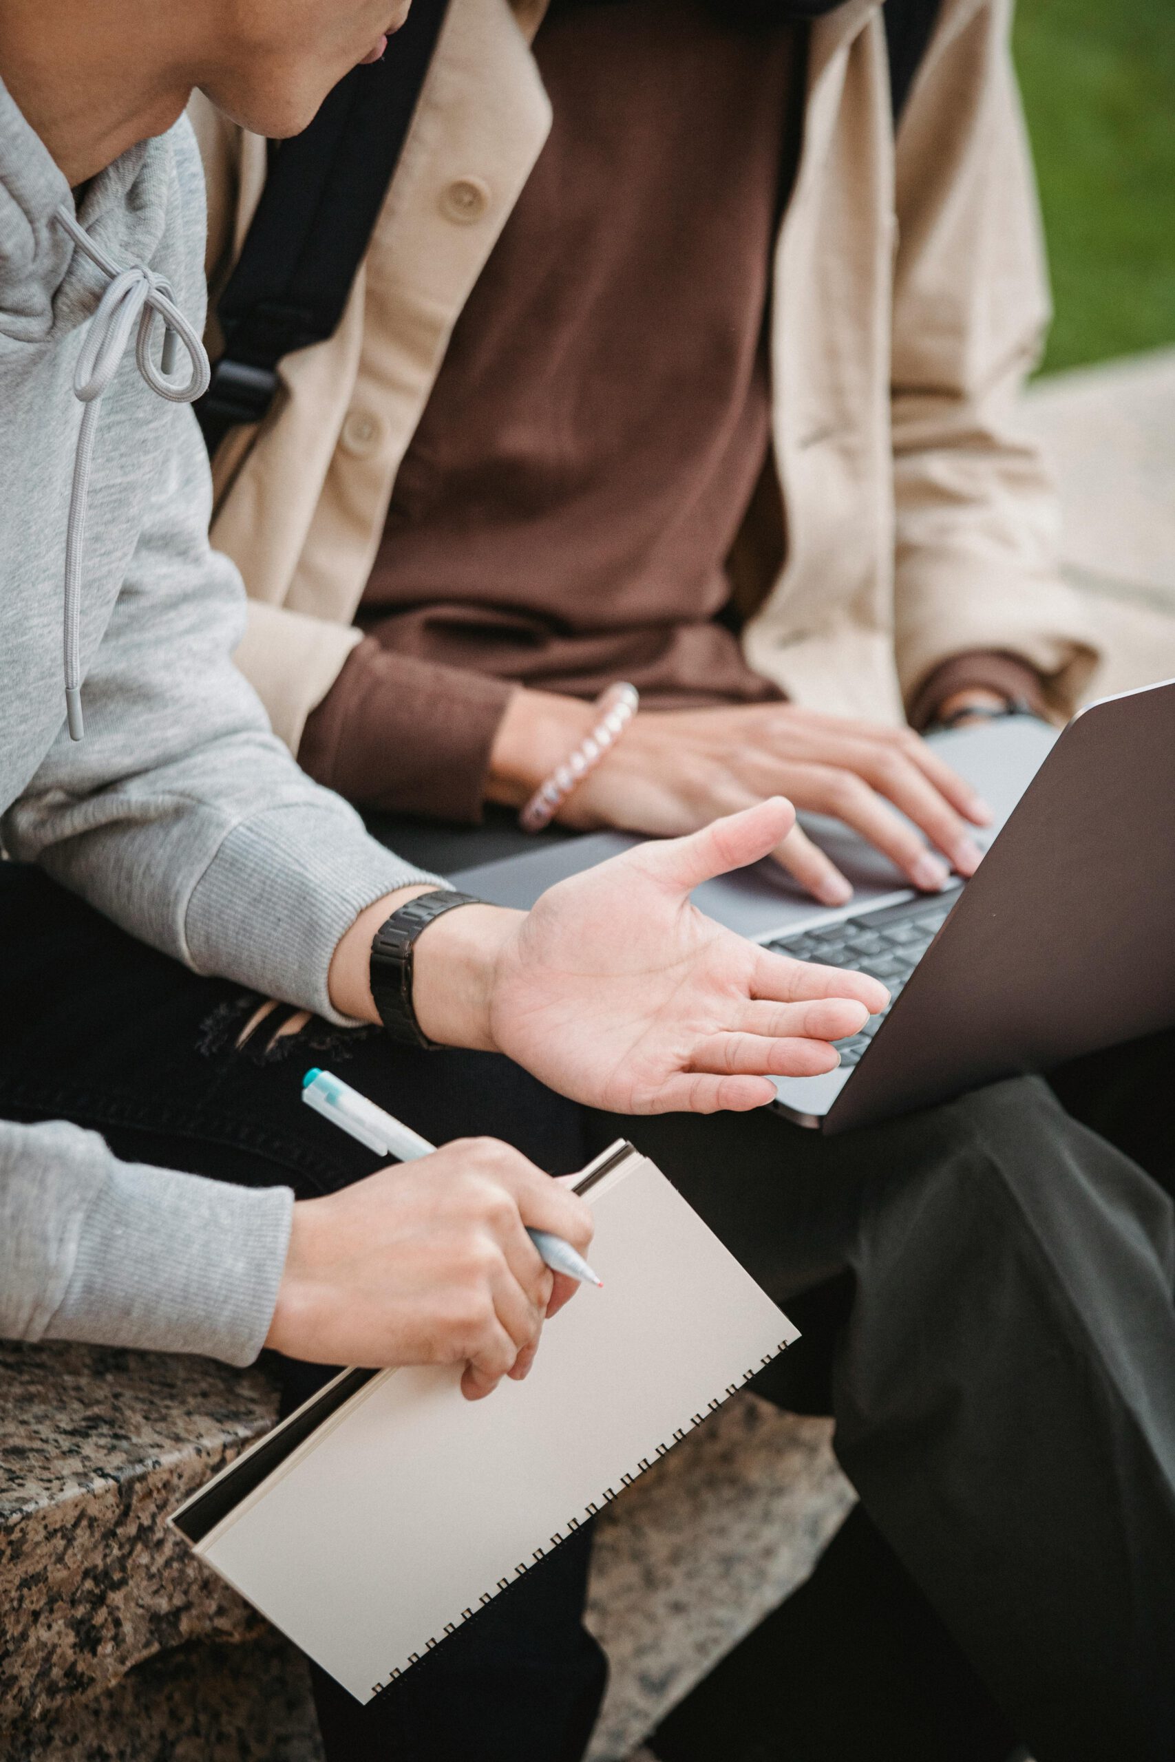
[[[525,1381],[470,1403],[460,1367],[344,1371],[171,1519],[361,1702],[796,1339],[629,1144],[576,1191],[604,1286],[543,1330]]]

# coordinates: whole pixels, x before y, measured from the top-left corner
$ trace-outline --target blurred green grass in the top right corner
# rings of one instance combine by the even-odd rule
[[[1175,0],[1018,0],[1057,317],[1045,372],[1175,344]]]

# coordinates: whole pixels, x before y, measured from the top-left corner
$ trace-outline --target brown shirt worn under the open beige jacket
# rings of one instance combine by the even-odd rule
[[[562,0],[536,56],[551,136],[400,467],[370,640],[301,747],[352,798],[453,818],[513,682],[779,698],[719,615],[770,442],[793,30]]]

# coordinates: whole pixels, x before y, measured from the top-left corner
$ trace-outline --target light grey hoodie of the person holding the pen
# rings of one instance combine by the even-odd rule
[[[326,990],[335,944],[365,906],[421,874],[298,770],[233,668],[245,596],[208,548],[196,418],[150,388],[134,331],[100,398],[85,495],[85,740],[65,728],[74,379],[86,338],[106,335],[93,315],[109,275],[55,217],[58,204],[74,213],[65,178],[0,86],[4,849],[197,973],[340,1020]],[[187,122],[95,178],[76,218],[113,266],[143,264],[169,284],[199,335],[204,189]],[[180,351],[173,377],[185,375]],[[254,1193],[120,1163],[69,1124],[0,1121],[0,1334],[247,1364],[268,1330],[291,1205],[285,1188]]]

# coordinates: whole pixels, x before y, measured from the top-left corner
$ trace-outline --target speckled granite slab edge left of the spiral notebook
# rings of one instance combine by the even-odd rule
[[[0,1727],[190,1635],[261,1632],[166,1517],[275,1410],[259,1371],[0,1343]]]

